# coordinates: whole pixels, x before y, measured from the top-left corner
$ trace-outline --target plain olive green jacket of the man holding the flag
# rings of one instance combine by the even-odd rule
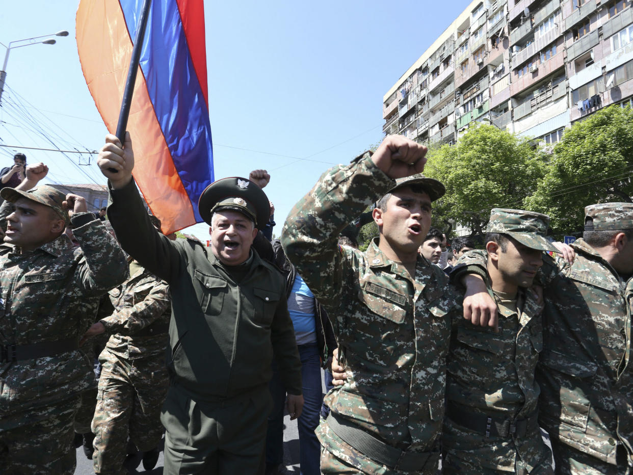
[[[196,401],[263,395],[274,353],[287,392],[300,395],[301,360],[279,269],[251,246],[248,271],[235,282],[197,239],[170,241],[157,232],[134,181],[110,195],[108,217],[123,249],[169,284],[172,382]]]

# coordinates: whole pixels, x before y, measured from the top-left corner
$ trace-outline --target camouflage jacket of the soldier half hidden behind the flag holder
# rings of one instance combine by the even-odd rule
[[[125,359],[162,357],[172,313],[167,282],[140,268],[108,293],[115,311],[99,320],[111,334],[106,350]],[[142,333],[150,326],[156,334]]]

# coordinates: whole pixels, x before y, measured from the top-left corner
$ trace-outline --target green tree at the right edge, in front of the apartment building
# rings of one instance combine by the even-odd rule
[[[610,106],[565,131],[525,205],[548,214],[557,236],[582,231],[585,206],[632,202],[632,176],[633,110]]]

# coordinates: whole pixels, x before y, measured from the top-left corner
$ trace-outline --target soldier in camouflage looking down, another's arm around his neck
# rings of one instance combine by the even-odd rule
[[[542,305],[526,291],[542,265],[549,217],[492,210],[486,232],[487,291],[499,331],[458,317],[447,363],[442,434],[446,474],[553,474],[537,421],[536,364],[542,350]],[[458,261],[468,265],[468,258]]]

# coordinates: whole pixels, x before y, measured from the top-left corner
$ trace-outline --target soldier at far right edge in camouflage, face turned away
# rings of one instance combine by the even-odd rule
[[[591,205],[585,214],[573,264],[544,256],[539,422],[550,435],[557,473],[629,474],[633,205]],[[481,274],[481,263],[467,272]]]

